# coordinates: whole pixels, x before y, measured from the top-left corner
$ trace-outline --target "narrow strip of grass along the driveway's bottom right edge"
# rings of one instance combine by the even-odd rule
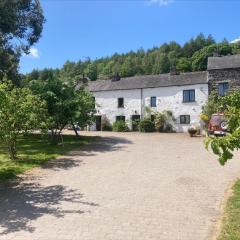
[[[218,240],[240,240],[240,180],[233,186],[228,199]]]

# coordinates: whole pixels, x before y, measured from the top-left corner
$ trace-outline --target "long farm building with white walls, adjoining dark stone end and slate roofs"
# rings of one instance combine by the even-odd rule
[[[176,131],[186,132],[199,115],[211,91],[224,95],[240,86],[240,55],[209,57],[208,69],[202,72],[145,75],[88,83],[96,101],[96,124],[91,130],[101,130],[102,122],[111,124],[132,121],[146,116],[146,107],[154,111],[170,110],[176,118]]]

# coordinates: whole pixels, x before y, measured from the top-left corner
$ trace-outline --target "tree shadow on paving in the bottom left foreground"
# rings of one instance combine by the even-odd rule
[[[73,203],[71,206],[74,203],[88,205],[89,208],[99,206],[93,202],[85,202],[82,198],[83,194],[61,185],[43,187],[18,181],[0,185],[0,239],[1,235],[16,231],[33,232],[34,228],[29,223],[45,214],[61,218],[66,214],[83,214],[86,211],[76,207],[61,209],[61,202]]]

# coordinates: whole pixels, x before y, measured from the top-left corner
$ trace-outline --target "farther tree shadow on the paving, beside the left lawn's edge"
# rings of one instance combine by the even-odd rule
[[[54,159],[45,163],[42,168],[50,168],[52,170],[68,170],[73,167],[78,167],[83,164],[83,160],[87,158],[77,157],[88,157],[95,156],[99,153],[113,152],[122,150],[125,148],[124,145],[132,144],[125,138],[120,137],[96,137],[96,140],[89,144],[81,147],[79,150],[71,151],[66,157]]]

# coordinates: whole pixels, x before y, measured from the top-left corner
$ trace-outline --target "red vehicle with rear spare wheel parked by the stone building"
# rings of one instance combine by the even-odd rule
[[[223,113],[212,115],[208,123],[208,134],[215,136],[225,136],[228,133],[227,120]]]

